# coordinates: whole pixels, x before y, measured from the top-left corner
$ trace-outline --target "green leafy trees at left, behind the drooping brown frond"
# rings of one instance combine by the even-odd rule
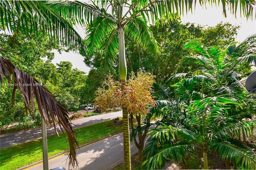
[[[82,98],[87,77],[85,73],[78,69],[72,69],[72,64],[69,61],[61,61],[57,65],[51,63],[54,58],[54,53],[51,51],[53,49],[60,52],[63,50],[59,45],[44,36],[37,38],[30,35],[28,37],[21,33],[12,36],[0,34],[0,36],[0,46],[12,51],[9,60],[26,73],[36,77],[38,81],[41,77],[44,87],[48,88],[69,111],[75,111],[87,102],[86,99]],[[14,105],[12,105],[14,85],[13,82],[8,83],[5,79],[0,86],[1,130],[13,121],[20,122],[17,128],[40,125],[38,110],[36,110],[35,115],[26,115],[22,95],[19,91],[16,91]]]

